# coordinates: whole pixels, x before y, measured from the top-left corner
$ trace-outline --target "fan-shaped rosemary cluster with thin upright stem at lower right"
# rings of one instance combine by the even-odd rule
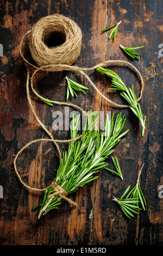
[[[139,174],[139,177],[140,177],[140,174]],[[134,217],[133,213],[139,214],[138,210],[142,210],[141,208],[139,208],[140,203],[142,205],[143,210],[145,210],[145,206],[147,205],[145,197],[143,196],[143,193],[140,188],[139,177],[137,179],[136,186],[129,193],[128,191],[130,189],[130,186],[127,187],[126,191],[124,191],[121,198],[114,197],[113,199],[120,205],[122,211],[128,218]],[[124,196],[126,196],[125,199],[124,199]]]

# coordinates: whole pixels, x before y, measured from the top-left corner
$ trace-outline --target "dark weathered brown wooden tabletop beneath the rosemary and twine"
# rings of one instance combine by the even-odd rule
[[[14,156],[24,145],[36,138],[47,138],[28,105],[26,96],[26,68],[19,53],[22,36],[43,16],[53,13],[71,17],[82,29],[82,50],[76,65],[91,67],[109,59],[127,60],[141,72],[145,82],[140,105],[147,116],[145,136],[129,108],[115,108],[99,96],[79,74],[62,71],[58,74],[38,74],[37,89],[41,95],[59,101],[66,100],[68,74],[89,87],[86,95],[79,94],[70,102],[88,111],[111,111],[125,114],[128,135],[115,148],[124,180],[102,170],[99,178],[81,187],[70,196],[77,204],[71,208],[63,202],[58,210],[49,211],[37,220],[38,211],[31,211],[42,199],[40,193],[28,191],[18,180],[13,167]],[[162,176],[162,60],[159,45],[162,39],[162,1],[1,1],[1,169],[0,185],[0,241],[1,245],[162,245],[163,199],[159,198]],[[109,33],[101,34],[105,26],[122,20],[114,42]],[[27,50],[28,40],[23,44]],[[144,46],[140,60],[129,59],[120,49],[124,46]],[[140,81],[135,72],[125,66],[110,66],[127,86],[134,84],[137,95]],[[109,80],[89,72],[97,88],[109,99],[124,103],[116,92],[108,92]],[[70,138],[69,131],[52,129],[52,113],[64,106],[50,107],[32,96],[40,119],[55,138]],[[74,109],[70,108],[70,111]],[[62,150],[65,144],[60,144]],[[51,143],[37,143],[18,159],[18,170],[30,186],[49,185],[58,168],[58,156]],[[108,163],[113,168],[109,157]],[[120,197],[128,185],[136,184],[142,164],[141,188],[145,195],[146,211],[126,218],[112,196]]]

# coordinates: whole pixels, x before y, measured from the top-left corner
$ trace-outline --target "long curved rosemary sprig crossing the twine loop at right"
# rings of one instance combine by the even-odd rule
[[[115,90],[122,90],[123,92],[120,93],[124,99],[127,100],[127,102],[130,105],[131,111],[136,115],[136,117],[140,120],[140,123],[142,125],[142,137],[145,133],[145,124],[146,124],[146,116],[143,118],[141,107],[139,102],[137,102],[136,95],[134,93],[133,85],[131,88],[127,88],[126,85],[122,82],[121,78],[112,70],[110,69],[104,69],[102,67],[97,67],[97,71],[101,72],[109,77],[112,78],[112,84],[111,88],[108,89],[115,89]]]

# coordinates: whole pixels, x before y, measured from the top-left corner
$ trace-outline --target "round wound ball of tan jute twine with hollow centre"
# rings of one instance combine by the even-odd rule
[[[64,44],[48,47],[46,40],[56,32],[65,38]],[[38,66],[72,65],[80,54],[81,46],[81,29],[76,22],[60,14],[41,18],[30,32],[29,50]],[[60,65],[55,66],[55,71],[62,71],[63,69]],[[54,71],[54,67],[46,67],[46,71]]]

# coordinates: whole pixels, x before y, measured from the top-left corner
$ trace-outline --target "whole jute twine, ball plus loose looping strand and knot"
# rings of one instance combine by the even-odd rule
[[[65,42],[64,42],[64,44],[57,46],[57,47],[48,47],[45,44],[45,41],[54,32],[59,32],[59,33],[63,34],[65,37]],[[29,35],[29,50],[30,50],[32,58],[34,59],[37,66],[33,65],[32,63],[29,63],[28,60],[26,58],[24,58],[23,53],[22,53],[23,40],[27,36],[27,34],[30,34]],[[19,174],[19,172],[17,170],[16,160],[17,160],[18,156],[20,156],[22,151],[24,149],[26,149],[27,147],[29,147],[29,145],[36,143],[36,142],[41,142],[41,141],[46,141],[46,142],[51,141],[55,144],[55,147],[57,148],[57,151],[58,151],[59,158],[61,159],[62,155],[61,155],[61,151],[60,151],[58,143],[60,143],[60,142],[68,143],[71,141],[76,141],[77,139],[80,139],[82,137],[82,135],[80,135],[76,139],[67,139],[67,140],[57,140],[57,139],[53,138],[52,133],[48,131],[46,126],[42,123],[42,121],[40,120],[40,118],[37,116],[37,114],[35,112],[35,109],[34,109],[34,106],[33,106],[33,103],[32,103],[31,97],[30,97],[30,93],[29,93],[29,80],[30,80],[31,89],[37,97],[39,97],[39,98],[41,97],[41,99],[46,100],[48,102],[55,103],[57,105],[72,106],[74,108],[79,109],[79,111],[84,112],[84,114],[86,114],[85,111],[77,105],[74,105],[74,104],[68,103],[68,102],[59,102],[59,101],[55,101],[55,100],[49,100],[49,99],[46,99],[45,97],[42,97],[41,95],[39,95],[39,93],[37,93],[36,89],[34,88],[34,77],[35,77],[36,72],[38,72],[40,70],[51,71],[51,72],[63,71],[63,70],[77,71],[80,74],[82,74],[87,79],[87,81],[90,82],[91,86],[96,90],[96,92],[99,95],[101,95],[101,97],[103,97],[103,99],[105,99],[112,105],[114,105],[116,107],[120,107],[120,108],[125,108],[125,107],[130,107],[130,106],[118,105],[117,103],[115,103],[115,102],[109,100],[107,97],[105,97],[97,89],[96,85],[91,81],[90,77],[84,71],[94,70],[98,66],[105,66],[108,64],[120,64],[120,65],[126,64],[130,68],[134,69],[136,71],[137,76],[139,76],[139,78],[140,78],[141,92],[140,92],[140,97],[137,99],[137,101],[139,101],[141,99],[142,93],[143,93],[143,88],[144,88],[143,79],[142,79],[142,76],[141,76],[139,70],[137,70],[134,65],[132,65],[129,62],[126,62],[124,60],[107,60],[107,61],[100,63],[96,66],[93,66],[92,68],[80,68],[79,66],[73,66],[72,64],[75,62],[75,60],[78,58],[78,56],[80,54],[81,46],[82,46],[82,32],[81,32],[80,28],[73,20],[71,20],[70,18],[65,17],[63,15],[60,15],[60,14],[54,14],[54,15],[50,15],[50,16],[41,18],[33,26],[32,30],[30,30],[26,34],[24,34],[24,36],[21,40],[21,44],[20,44],[20,54],[27,66],[27,81],[26,81],[27,99],[28,99],[29,105],[33,111],[33,114],[34,114],[36,120],[39,122],[42,129],[46,131],[47,135],[50,138],[49,139],[43,139],[43,138],[36,139],[35,141],[29,142],[20,151],[18,151],[17,155],[15,156],[15,160],[14,160],[15,172],[16,172],[20,182],[23,184],[23,186],[28,188],[29,190],[45,191],[47,188],[54,186],[55,193],[52,194],[51,196],[58,194],[60,197],[67,200],[72,205],[77,205],[77,204],[74,203],[70,198],[67,198],[66,191],[64,191],[63,188],[61,188],[55,182],[55,179],[53,180],[52,184],[46,188],[42,188],[42,189],[34,188],[34,187],[28,186],[25,182],[23,182],[21,175]],[[30,69],[31,68],[34,69],[34,72],[33,72],[32,76],[30,77]]]

